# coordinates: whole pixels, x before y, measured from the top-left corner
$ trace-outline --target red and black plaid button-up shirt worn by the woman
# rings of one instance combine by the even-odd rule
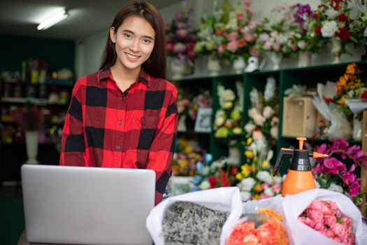
[[[142,69],[122,92],[106,66],[73,87],[60,165],[153,169],[157,204],[171,175],[177,120],[174,85]]]

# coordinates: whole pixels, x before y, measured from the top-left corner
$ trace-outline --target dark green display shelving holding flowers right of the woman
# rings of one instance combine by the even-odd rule
[[[359,66],[359,69],[367,70],[367,62],[359,61],[356,62]],[[340,76],[343,76],[345,73],[345,69],[348,63],[339,63],[339,64],[321,64],[317,66],[307,66],[302,68],[286,68],[280,70],[266,70],[266,71],[254,71],[251,73],[241,73],[241,74],[225,74],[220,76],[200,76],[200,77],[184,77],[179,80],[175,80],[175,83],[180,86],[188,86],[188,87],[200,87],[203,84],[206,84],[206,87],[211,87],[211,94],[213,97],[213,113],[211,116],[212,124],[215,120],[216,111],[220,110],[220,102],[217,96],[217,87],[218,85],[224,85],[227,89],[231,89],[236,91],[236,81],[241,80],[243,83],[243,121],[242,125],[245,126],[249,120],[248,110],[250,109],[250,91],[252,88],[257,88],[259,91],[264,91],[267,83],[267,79],[269,77],[275,78],[276,81],[276,96],[278,96],[278,109],[279,109],[279,124],[278,124],[278,140],[276,142],[271,142],[274,150],[274,157],[272,162],[275,161],[280,148],[294,146],[295,148],[298,146],[298,141],[296,140],[296,136],[304,136],[304,135],[294,135],[290,137],[289,135],[283,135],[283,101],[285,99],[285,90],[289,89],[293,85],[305,85],[308,88],[315,88],[317,83],[326,83],[326,81],[330,80],[336,82]],[[366,80],[366,78],[362,78],[362,80]],[[209,85],[209,86],[208,86]],[[290,121],[294,121],[294,123],[299,123],[305,112],[299,111],[299,113],[293,113],[291,115]],[[299,127],[304,127],[299,125]],[[179,132],[178,137],[180,135],[189,133],[195,134],[194,131],[190,130],[188,132]],[[228,146],[222,144],[220,141],[217,141],[214,137],[215,132],[212,131],[209,133],[200,133],[201,138],[205,138],[208,141],[208,153],[213,155],[213,160],[217,160],[220,157],[226,157],[229,154]],[[203,137],[205,136],[206,137]],[[243,141],[245,140],[245,136],[243,136]],[[309,142],[315,144],[321,144],[323,142],[328,143],[329,140],[325,139],[317,139],[312,138],[308,139]],[[349,140],[350,144],[361,144],[360,140]],[[241,162],[245,160],[244,147],[243,144],[241,146]],[[287,172],[289,166],[287,164],[283,164],[280,172],[285,174]]]

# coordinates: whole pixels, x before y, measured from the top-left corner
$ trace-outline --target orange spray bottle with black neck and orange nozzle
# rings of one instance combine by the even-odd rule
[[[283,157],[292,157],[291,166],[289,167],[287,177],[283,183],[282,197],[285,197],[287,194],[294,195],[301,193],[304,190],[316,188],[315,180],[312,176],[310,160],[308,158],[328,157],[326,154],[303,150],[303,141],[305,141],[306,138],[297,137],[296,139],[299,141],[299,149],[295,150],[293,147],[281,148],[274,166],[273,176],[279,172],[280,163],[282,162]]]

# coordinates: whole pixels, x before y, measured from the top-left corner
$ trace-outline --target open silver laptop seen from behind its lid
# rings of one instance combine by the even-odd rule
[[[29,242],[152,245],[154,171],[23,165],[21,173]]]

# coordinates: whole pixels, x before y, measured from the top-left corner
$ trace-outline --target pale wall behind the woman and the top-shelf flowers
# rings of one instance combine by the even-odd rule
[[[237,2],[237,0],[230,0],[232,6]],[[223,0],[220,0],[221,4]],[[254,11],[254,20],[261,21],[264,17],[271,18],[271,10],[275,6],[281,4],[292,4],[292,3],[309,3],[311,8],[315,9],[319,4],[319,0],[252,0],[252,10]],[[357,13],[357,10],[354,6],[354,3],[351,5],[353,9],[353,13]],[[203,10],[208,11],[208,13],[212,13],[213,10],[213,1],[212,0],[188,0],[187,8],[194,9],[194,25],[195,27],[199,26],[201,13]],[[166,20],[172,20],[175,12],[177,10],[182,9],[181,3],[175,3],[172,6],[167,6],[166,8],[159,9],[162,17]],[[113,18],[113,17],[111,17]],[[89,73],[95,72],[99,69],[99,65],[101,62],[101,55],[103,52],[104,45],[106,44],[106,38],[108,34],[108,27],[106,27],[106,31],[103,31],[99,34],[95,34],[93,36],[89,36],[77,42],[76,48],[76,61],[75,61],[75,71],[77,78],[81,76],[85,76]],[[342,55],[342,62],[350,62],[359,60],[361,54],[364,52],[364,48],[360,47],[357,50],[353,50],[353,55]],[[333,57],[329,52],[329,48],[325,47],[323,50],[319,52],[318,55],[312,55],[312,64],[328,64],[331,62]],[[168,59],[169,61],[169,59]],[[269,62],[268,62],[269,63]],[[281,68],[288,66],[296,66],[296,59],[285,59],[282,62]],[[168,62],[169,64],[169,62]],[[270,64],[266,64],[264,67],[268,69]],[[229,69],[224,68],[224,72],[229,71]],[[196,76],[206,75],[206,59],[204,57],[200,57],[195,61],[195,73]],[[169,78],[169,68],[168,68],[168,78]]]

